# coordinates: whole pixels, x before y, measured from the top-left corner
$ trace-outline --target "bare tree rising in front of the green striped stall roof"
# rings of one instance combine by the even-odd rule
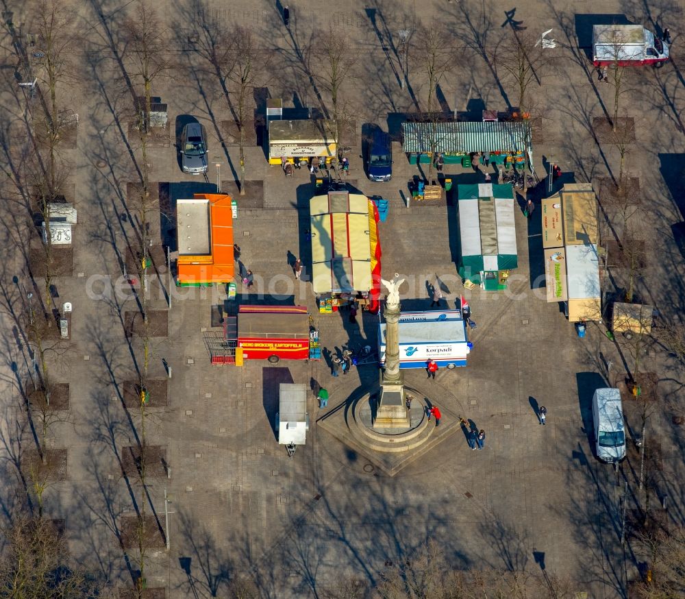
[[[443,116],[438,101],[438,86],[454,65],[454,53],[450,47],[449,36],[442,23],[434,21],[431,25],[421,25],[414,36],[412,62],[426,82],[425,116],[429,122],[428,143],[431,161],[428,167],[428,180],[433,178],[433,166],[438,152],[438,123]]]

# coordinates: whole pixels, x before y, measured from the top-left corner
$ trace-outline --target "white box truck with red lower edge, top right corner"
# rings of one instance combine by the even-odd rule
[[[630,66],[669,60],[669,45],[642,25],[594,25],[593,64]]]

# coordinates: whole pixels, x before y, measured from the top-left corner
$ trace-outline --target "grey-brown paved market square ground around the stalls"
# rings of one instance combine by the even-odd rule
[[[385,476],[317,424],[327,411],[377,382],[378,370],[364,365],[334,378],[325,360],[212,366],[208,337],[221,332],[212,310],[234,308],[223,288],[175,289],[162,252],[158,267],[149,269],[148,306],[168,312],[168,336],[151,341],[149,376],[171,378],[166,404],[151,404],[147,410],[146,437],[150,445],[163,448],[166,460],[148,479],[146,493],[136,476],[123,475],[124,448],[140,441],[140,414],[127,407],[124,389],[137,380],[142,363],[140,339],[129,342],[125,335],[126,314],[139,310],[125,264],[135,235],[132,223],[138,218],[129,205],[133,194],[128,184],[140,181],[142,156],[140,141],[129,131],[123,75],[110,47],[112,40],[118,44],[123,39],[124,16],[132,7],[93,1],[79,5],[77,19],[84,24],[86,41],[69,55],[81,77],[76,82],[64,79],[58,87],[64,108],[79,115],[75,147],[60,150],[60,160],[69,164],[65,196],[75,202],[78,223],[73,227],[73,276],[54,281],[55,304],[73,305],[71,339],[66,351],[50,358],[52,380],[70,383],[69,411],[49,431],[49,447],[68,450],[68,476],[48,487],[44,501],[48,517],[66,519],[73,559],[112,588],[131,586],[136,555],[121,548],[123,519],[136,515],[145,496],[159,530],[166,530],[166,493],[170,548],[149,549],[145,576],[148,587],[163,587],[170,598],[231,596],[236,578],[256,580],[264,597],[323,596],[342,573],[378,583],[388,563],[402,563],[429,539],[438,542],[454,568],[527,570],[540,576],[542,554],[545,572],[570,578],[575,591],[593,598],[626,597],[628,580],[638,578],[640,560],[621,547],[621,501],[625,481],[630,482],[629,500],[635,501],[634,468],[639,462],[625,463],[614,474],[612,467],[595,460],[590,398],[607,378],[632,367],[630,351],[620,339],[610,343],[603,326],[595,324],[580,339],[558,304],[545,302],[539,279],[539,204],[528,221],[519,197],[519,269],[506,293],[486,293],[464,290],[456,271],[456,189],[436,205],[408,205],[406,200],[408,182],[421,171],[401,152],[398,123],[406,119],[405,112],[416,110],[412,93],[423,102],[426,84],[421,73],[414,73],[412,93],[400,86],[400,62],[388,49],[388,32],[396,36],[417,16],[425,23],[444,22],[455,62],[453,72],[440,82],[445,109],[505,110],[514,103],[514,89],[484,56],[491,56],[500,26],[507,25],[504,9],[510,7],[475,0],[421,6],[379,0],[369,7],[354,0],[344,8],[327,8],[295,0],[286,31],[278,3],[265,0],[156,6],[160,30],[169,35],[164,56],[171,69],[153,86],[154,95],[169,107],[169,138],[147,151],[155,246],[166,243],[175,228],[166,217],[169,207],[162,205],[171,197],[169,184],[184,184],[173,193],[189,195],[210,191],[218,181],[223,191],[234,194],[240,173],[238,145],[221,137],[221,123],[234,118],[232,108],[211,65],[190,49],[188,35],[204,25],[250,27],[260,45],[273,53],[263,82],[268,96],[283,98],[289,108],[321,110],[327,96],[323,93],[325,99],[319,101],[321,92],[312,85],[321,73],[310,73],[310,80],[301,54],[316,30],[330,25],[346,32],[355,56],[355,78],[344,89],[347,110],[355,119],[348,140],[349,180],[366,195],[388,199],[388,218],[379,223],[384,276],[399,272],[408,279],[402,289],[403,309],[428,309],[427,286],[439,278],[443,307],[458,307],[464,294],[477,323],[470,332],[473,350],[467,367],[440,369],[434,381],[426,380],[423,370],[407,371],[406,380],[430,389],[448,415],[466,417],[486,430],[486,444],[483,451],[472,452],[464,435],[456,432],[397,476]],[[23,23],[23,34],[29,32],[35,14],[18,5],[12,10],[15,25]],[[522,27],[534,34],[553,28],[551,37],[558,42],[550,50],[553,69],[539,86],[531,87],[542,115],[534,143],[534,166],[542,178],[550,157],[564,171],[561,182],[595,182],[618,172],[616,146],[601,143],[593,134],[593,117],[606,116],[613,100],[611,90],[597,84],[584,50],[578,48],[577,32],[584,23],[578,14],[625,14],[649,29],[666,23],[674,33],[685,25],[677,7],[664,9],[664,14],[645,10],[638,4],[625,8],[618,2],[586,1],[562,7],[528,0],[516,6],[515,19]],[[3,60],[8,65],[16,62],[8,35]],[[625,169],[640,179],[643,190],[636,222],[650,265],[640,273],[636,289],[667,318],[677,317],[684,302],[683,258],[671,228],[684,219],[682,64],[682,50],[675,45],[673,60],[663,69],[626,71],[629,83],[623,100],[636,137]],[[21,170],[29,101],[25,90],[16,87],[12,69],[3,73],[4,151],[14,157],[5,169],[6,187],[14,196],[8,191],[4,197],[16,197],[12,185],[20,176],[16,173]],[[45,95],[45,86],[41,91]],[[254,98],[251,93],[250,113],[260,109]],[[30,101],[31,110],[40,110],[39,101]],[[204,177],[179,169],[175,136],[190,114],[208,133],[210,166]],[[369,124],[393,134],[393,179],[388,183],[369,182],[362,169],[360,140]],[[16,138],[8,137],[11,132],[17,132]],[[306,260],[308,201],[315,191],[310,173],[302,169],[285,177],[279,167],[269,167],[264,150],[253,140],[245,151],[245,165],[249,193],[245,201],[234,195],[234,238],[256,286],[247,290],[238,280],[236,303],[253,303],[262,295],[287,296],[287,301],[308,307],[328,350],[336,352],[348,343],[375,347],[377,315],[365,312],[353,324],[343,315],[320,315],[316,309]],[[455,185],[475,181],[473,171],[460,166],[446,165],[444,174]],[[546,184],[532,191],[536,202],[545,195]],[[7,204],[5,211],[16,214],[10,206],[17,205]],[[2,488],[8,512],[15,504],[25,504],[26,497],[21,485],[16,493],[16,468],[9,457],[20,440],[34,442],[18,382],[32,368],[18,330],[26,289],[32,286],[20,251],[31,230],[26,221],[22,212],[21,218],[8,217],[3,229],[5,247],[12,248],[0,290],[8,356],[3,368],[3,441],[11,476],[5,477],[9,482]],[[292,276],[291,255],[305,262],[301,281]],[[12,281],[15,275],[17,282]],[[615,276],[610,273],[607,285],[623,287]],[[42,293],[42,284],[36,283],[36,295]],[[133,286],[142,293],[142,282]],[[682,526],[682,430],[671,424],[681,409],[674,402],[682,396],[682,367],[658,344],[647,343],[641,351],[643,370],[658,373],[660,379],[647,433],[658,439],[654,443],[662,456],[662,469],[653,472],[652,502],[658,505],[659,498],[668,496],[673,506],[669,522]],[[329,407],[323,410],[317,407],[316,393],[308,394],[307,443],[291,459],[275,435],[280,382],[304,383],[310,389],[318,384],[330,393]],[[546,426],[536,418],[543,404]],[[632,443],[640,419],[635,405],[626,411]]]

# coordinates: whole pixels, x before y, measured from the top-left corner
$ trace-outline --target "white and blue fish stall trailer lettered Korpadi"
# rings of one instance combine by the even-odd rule
[[[399,367],[425,368],[428,360],[438,366],[466,366],[471,343],[460,310],[403,312],[399,317]],[[378,355],[385,363],[385,323],[378,325]]]

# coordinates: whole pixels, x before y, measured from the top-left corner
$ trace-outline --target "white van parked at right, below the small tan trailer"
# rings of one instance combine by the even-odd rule
[[[621,391],[597,389],[593,396],[593,421],[597,457],[604,462],[625,458],[625,426]]]

